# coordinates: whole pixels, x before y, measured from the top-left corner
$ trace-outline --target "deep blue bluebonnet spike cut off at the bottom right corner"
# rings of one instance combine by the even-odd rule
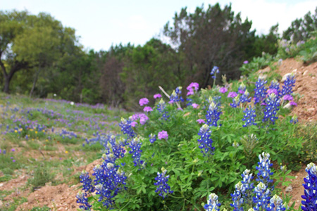
[[[305,190],[302,198],[302,209],[304,211],[317,210],[317,170],[316,165],[311,162],[306,167],[307,176],[304,178],[303,184]]]

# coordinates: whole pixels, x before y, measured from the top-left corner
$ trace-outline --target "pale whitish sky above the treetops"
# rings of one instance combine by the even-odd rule
[[[27,10],[51,14],[63,26],[72,27],[86,50],[107,51],[111,45],[143,45],[152,37],[160,37],[163,26],[173,23],[175,13],[187,7],[232,4],[232,11],[241,13],[242,20],[252,20],[257,34],[267,34],[279,23],[279,32],[292,20],[315,13],[316,0],[0,0],[1,11]]]

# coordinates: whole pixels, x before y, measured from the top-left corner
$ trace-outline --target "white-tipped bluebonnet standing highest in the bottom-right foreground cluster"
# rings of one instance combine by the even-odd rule
[[[273,163],[271,163],[270,154],[263,152],[262,156],[261,154],[259,155],[259,160],[259,166],[256,167],[256,170],[259,170],[256,181],[261,181],[266,186],[269,186],[273,183],[273,179],[270,179],[271,175],[273,174],[273,172],[271,172],[271,166]]]

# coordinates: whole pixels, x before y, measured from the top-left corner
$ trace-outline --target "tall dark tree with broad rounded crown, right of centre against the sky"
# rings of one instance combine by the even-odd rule
[[[244,60],[245,49],[252,45],[254,31],[250,32],[251,21],[242,23],[240,13],[234,15],[231,5],[220,8],[219,4],[197,7],[194,13],[182,8],[175,14],[173,27],[169,23],[164,34],[170,37],[178,52],[184,55],[186,72],[206,87],[214,65],[228,78],[240,75],[239,67]]]

